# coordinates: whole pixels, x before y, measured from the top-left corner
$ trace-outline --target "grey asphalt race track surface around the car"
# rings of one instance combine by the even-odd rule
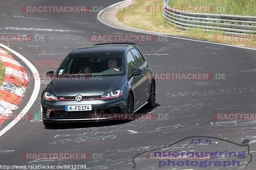
[[[105,8],[117,2],[118,0],[1,0],[0,34],[47,37],[46,41],[10,42],[9,45],[33,63],[40,74],[50,70],[56,71],[71,50],[97,43],[88,41],[87,36],[140,33],[106,26],[97,20],[98,12],[25,13],[21,10],[22,7],[87,5]],[[134,22],[139,24],[139,21]],[[5,42],[4,44],[7,45]],[[28,111],[33,119],[39,119],[20,120],[0,137],[0,165],[86,165],[86,169],[93,170],[124,170],[132,169],[132,159],[135,157],[135,169],[255,169],[256,121],[220,121],[214,120],[213,115],[256,113],[256,51],[170,37],[168,41],[138,42],[138,45],[155,73],[211,73],[214,77],[215,74],[226,74],[226,79],[157,80],[157,107],[143,107],[137,112],[155,114],[156,120],[62,123],[55,128],[45,128],[40,121],[41,92],[49,80],[41,81],[38,98]],[[20,61],[17,57],[16,60]],[[31,73],[28,67],[25,66],[25,69]],[[20,108],[15,113],[20,113],[28,102],[33,85],[34,81],[31,80]],[[168,119],[161,120],[164,114]],[[5,121],[0,130],[11,121]],[[191,139],[182,141],[193,136],[201,136],[195,137],[195,140],[207,136],[205,138],[216,137],[233,143],[214,139],[219,142],[212,142],[203,147],[200,144],[189,145]],[[167,150],[163,151],[180,152],[201,148],[209,152],[242,152],[247,149],[236,144],[242,144],[244,139],[250,139],[252,161],[250,162],[251,158],[246,153],[246,158],[240,162],[240,166],[159,167],[158,161],[147,160],[143,155],[146,152],[150,153],[150,150],[158,150],[180,140],[175,147],[167,147]],[[26,159],[26,153],[87,153],[91,157],[86,160]],[[248,162],[250,163],[245,167]]]

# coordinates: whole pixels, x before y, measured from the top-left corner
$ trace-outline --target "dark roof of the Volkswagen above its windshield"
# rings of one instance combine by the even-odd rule
[[[69,53],[70,55],[86,55],[86,54],[124,54],[126,49],[138,48],[135,44],[103,44],[89,47],[77,48]]]

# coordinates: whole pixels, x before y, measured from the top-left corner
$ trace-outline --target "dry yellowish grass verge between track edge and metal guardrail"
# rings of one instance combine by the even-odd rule
[[[212,34],[209,34],[209,32],[206,32],[206,31],[199,31],[199,30],[189,30],[188,32],[181,32],[178,29],[175,29],[174,27],[170,26],[167,22],[165,22],[161,12],[154,13],[154,12],[146,11],[147,6],[162,6],[163,0],[134,0],[134,1],[135,1],[134,4],[119,11],[116,16],[119,21],[123,22],[126,25],[132,26],[134,28],[144,29],[144,30],[176,34],[180,36],[195,38],[198,40],[213,41],[213,42],[226,43],[226,44],[242,46],[242,47],[256,48],[255,39],[252,41],[217,41],[215,37],[218,35],[222,35],[222,33],[220,32],[213,32]],[[175,1],[175,0],[172,0],[172,1]],[[194,1],[194,0],[182,0],[181,2],[183,1]],[[197,0],[197,1],[200,1],[200,0]],[[201,1],[203,2],[203,0]],[[216,1],[216,0],[213,0],[213,1]],[[219,0],[219,1],[220,3],[224,2],[222,0]],[[231,0],[225,0],[225,1],[231,1]],[[254,2],[255,0],[251,0],[251,1],[250,0],[233,0],[233,1],[234,2],[236,1],[239,1],[239,2],[253,1]],[[177,6],[177,4],[175,5]],[[217,6],[217,5],[214,5],[214,6]],[[220,6],[224,6],[224,5],[220,5]],[[241,7],[241,6],[238,6],[238,7]],[[255,9],[256,8],[254,8],[254,11],[253,11],[254,13],[255,13]],[[254,16],[256,16],[256,14]]]

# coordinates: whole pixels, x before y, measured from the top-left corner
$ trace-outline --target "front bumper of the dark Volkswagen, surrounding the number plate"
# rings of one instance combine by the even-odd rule
[[[126,113],[127,93],[112,100],[46,101],[42,100],[44,122],[91,122],[115,120],[118,114]],[[92,111],[66,112],[67,105],[92,105]],[[116,115],[117,114],[117,115]],[[89,116],[90,115],[90,116]]]

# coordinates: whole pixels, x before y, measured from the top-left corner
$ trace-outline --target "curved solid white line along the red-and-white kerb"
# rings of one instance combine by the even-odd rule
[[[22,60],[27,66],[28,68],[31,70],[31,72],[34,74],[34,77],[36,77],[36,75],[38,75],[38,71],[36,70],[36,67],[30,63],[28,61],[27,58],[25,58],[24,56],[22,56],[21,54],[17,53],[16,51],[12,50],[11,48],[5,46],[4,44],[1,44],[0,43],[0,46],[5,48],[6,50],[8,51],[12,51],[12,53],[14,55],[16,55],[17,57],[20,58],[20,60]],[[36,98],[37,98],[37,95],[39,93],[39,90],[40,90],[40,79],[36,79],[35,80],[35,86],[34,86],[34,90],[31,94],[31,97],[30,99],[28,100],[28,103],[26,104],[26,106],[21,110],[20,114],[12,121],[10,122],[6,127],[4,127],[4,129],[2,129],[0,131],[0,137],[5,133],[7,132],[9,129],[11,129],[17,122],[20,121],[20,119],[22,119],[22,117],[28,112],[28,110],[30,109],[30,107],[34,104]]]

